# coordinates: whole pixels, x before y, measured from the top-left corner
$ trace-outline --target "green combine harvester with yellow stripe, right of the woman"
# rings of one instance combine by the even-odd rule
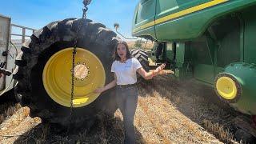
[[[132,33],[156,42],[154,62],[166,62],[179,79],[212,86],[255,123],[255,10],[256,0],[141,0]]]

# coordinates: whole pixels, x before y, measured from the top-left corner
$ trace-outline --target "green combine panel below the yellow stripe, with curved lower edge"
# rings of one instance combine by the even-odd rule
[[[182,18],[174,19],[173,21],[165,22],[155,26],[156,37],[158,41],[174,41],[188,40],[198,38],[202,35],[206,28],[224,14],[242,9],[246,4],[252,4],[256,1],[230,1],[219,6],[213,6],[206,10],[201,10],[192,14],[188,14]],[[166,31],[168,29],[168,31]]]

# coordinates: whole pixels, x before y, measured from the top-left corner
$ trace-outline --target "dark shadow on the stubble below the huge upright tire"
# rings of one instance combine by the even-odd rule
[[[70,128],[72,129],[72,128]],[[90,131],[84,129],[59,132],[58,127],[41,123],[22,134],[14,143],[122,143],[123,131],[120,118],[98,119]],[[136,130],[136,143],[145,143],[142,134]]]

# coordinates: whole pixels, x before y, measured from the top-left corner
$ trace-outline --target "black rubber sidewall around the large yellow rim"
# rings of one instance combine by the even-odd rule
[[[115,35],[112,31],[100,26],[102,25],[98,25],[98,23],[94,25],[89,23],[88,26],[83,26],[83,30],[87,29],[86,34],[79,35],[76,46],[89,50],[100,59],[105,69],[107,84],[114,79],[113,74],[110,72],[110,66],[113,62],[112,54],[115,46],[111,40]],[[62,25],[62,29],[66,29],[65,25]],[[69,35],[66,36],[68,37]],[[30,102],[24,102],[30,107],[30,116],[39,116],[43,121],[60,123],[62,125],[66,125],[69,122],[70,108],[62,106],[50,98],[43,86],[42,73],[46,62],[53,54],[73,46],[74,41],[58,41],[38,54],[38,62],[31,68],[30,73],[32,89],[29,98]],[[107,90],[89,105],[74,108],[72,118],[74,123],[84,122],[86,119],[92,119],[102,112],[114,114],[116,109],[114,89]]]

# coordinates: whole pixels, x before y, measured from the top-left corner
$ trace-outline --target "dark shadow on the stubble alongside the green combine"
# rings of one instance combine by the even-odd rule
[[[169,76],[141,82],[138,86],[148,92],[145,96],[154,97],[155,92],[158,92],[160,97],[169,99],[177,110],[214,134],[220,141],[230,142],[230,138],[233,138],[236,130],[233,119],[238,112],[222,102],[212,87],[195,81],[180,82]],[[143,94],[140,95],[143,97]],[[207,127],[209,122],[210,126],[218,124],[219,131],[210,130]],[[222,132],[227,134],[223,135]]]

